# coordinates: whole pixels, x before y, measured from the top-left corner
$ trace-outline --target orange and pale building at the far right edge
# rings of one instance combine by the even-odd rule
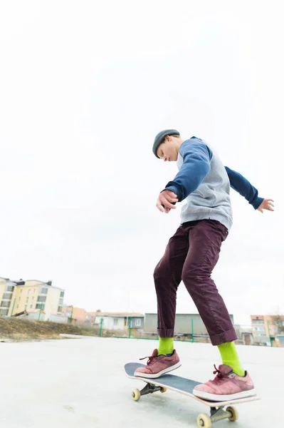
[[[270,339],[283,332],[284,316],[251,315],[251,327],[254,342],[270,345]]]

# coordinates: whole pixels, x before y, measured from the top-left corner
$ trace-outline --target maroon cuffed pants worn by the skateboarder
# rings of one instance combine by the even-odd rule
[[[179,226],[154,270],[159,337],[174,337],[177,287],[184,282],[209,333],[212,345],[237,339],[231,318],[216,288],[214,269],[228,230],[216,220]]]

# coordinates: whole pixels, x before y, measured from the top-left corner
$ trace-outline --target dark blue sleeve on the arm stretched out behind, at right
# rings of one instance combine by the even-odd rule
[[[228,174],[228,179],[230,180],[231,188],[244,196],[244,198],[253,205],[253,208],[257,210],[263,201],[263,198],[258,198],[258,190],[240,173],[236,173],[236,171],[231,170],[228,166],[225,166],[225,169]]]

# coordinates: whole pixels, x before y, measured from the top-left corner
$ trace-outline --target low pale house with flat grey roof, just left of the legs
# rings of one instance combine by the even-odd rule
[[[97,312],[95,324],[104,330],[125,330],[128,327],[139,330],[144,327],[144,315],[137,312]]]

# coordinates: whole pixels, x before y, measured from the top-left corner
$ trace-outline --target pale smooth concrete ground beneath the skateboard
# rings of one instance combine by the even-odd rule
[[[0,424],[5,428],[196,427],[209,407],[177,392],[156,392],[134,402],[125,362],[150,355],[157,342],[84,337],[47,342],[0,343]],[[219,364],[216,347],[176,342],[182,360],[175,374],[205,382]],[[283,427],[284,348],[238,346],[262,399],[237,404],[238,422],[213,426]],[[147,360],[145,360],[147,361]]]

